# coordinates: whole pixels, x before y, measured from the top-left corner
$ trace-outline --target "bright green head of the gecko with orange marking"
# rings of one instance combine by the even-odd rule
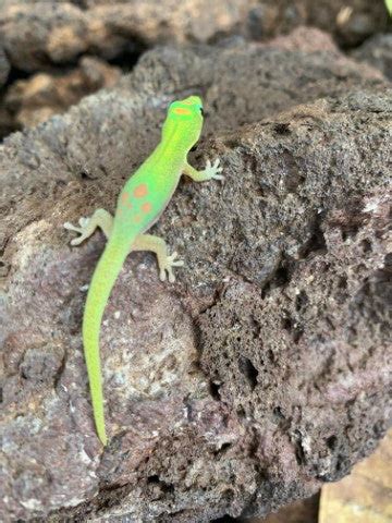
[[[203,101],[198,96],[175,100],[169,106],[162,135],[179,134],[184,146],[191,149],[199,139],[203,127]]]

